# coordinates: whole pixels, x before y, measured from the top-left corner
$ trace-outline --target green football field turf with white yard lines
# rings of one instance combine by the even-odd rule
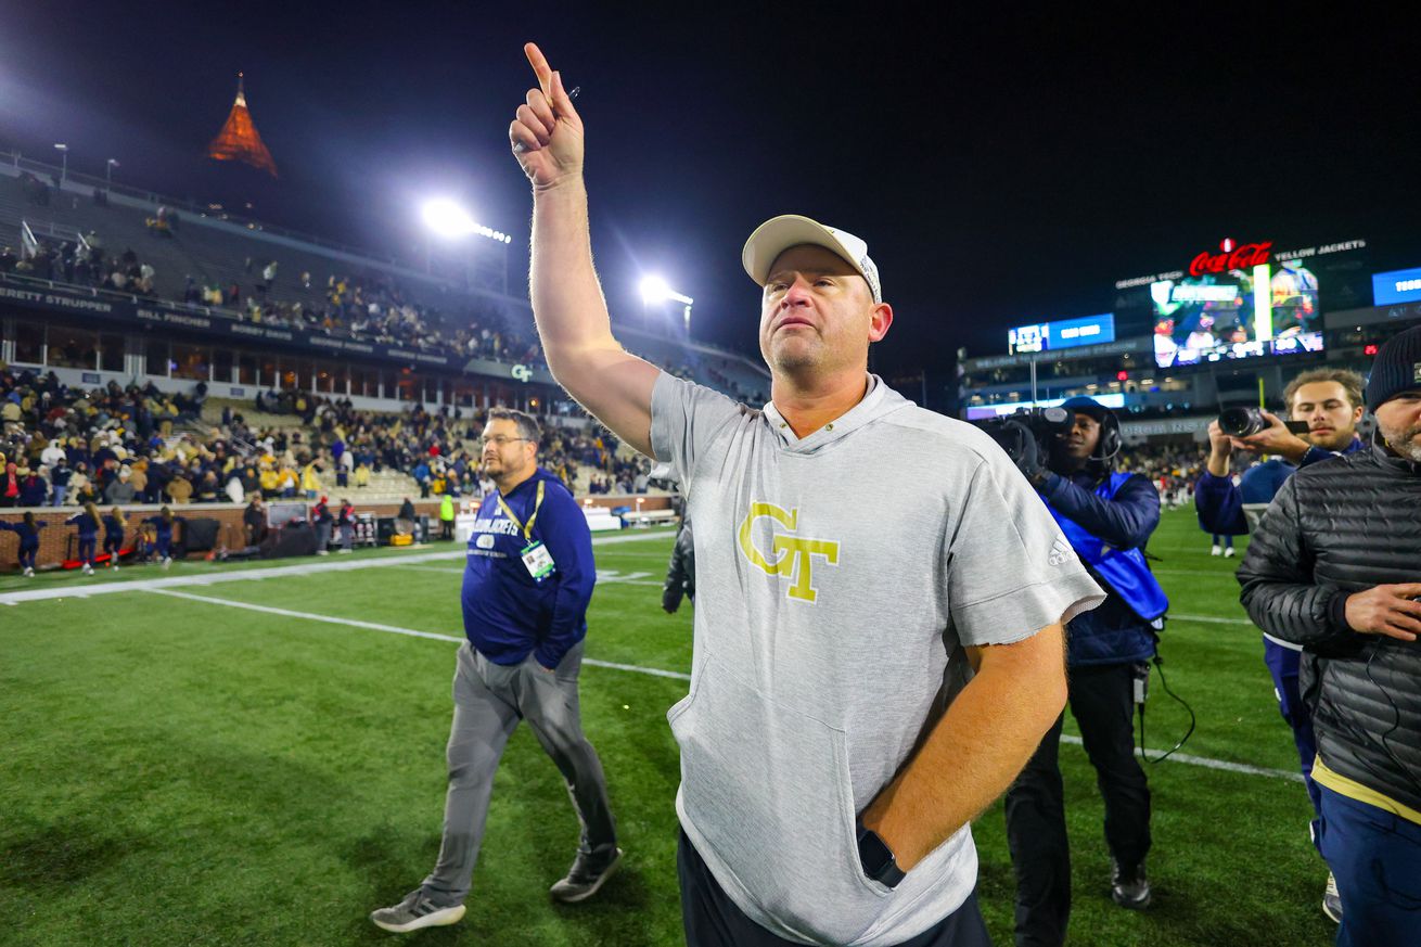
[[[686,692],[691,613],[659,609],[668,532],[610,539],[597,546],[587,657],[598,664],[583,670],[581,700],[624,867],[591,901],[549,899],[577,819],[520,728],[469,913],[408,936],[418,943],[682,943],[665,712]],[[1331,943],[1319,909],[1326,869],[1259,634],[1238,604],[1238,560],[1208,555],[1189,509],[1165,513],[1151,552],[1174,603],[1168,683],[1198,729],[1177,758],[1147,765],[1155,899],[1144,913],[1110,901],[1094,772],[1079,745],[1063,745],[1070,943]],[[460,567],[459,550],[435,545],[0,577],[0,943],[398,938],[367,914],[416,886],[439,847]],[[1188,722],[1158,684],[1151,754]],[[1009,944],[1002,806],[973,832],[988,926]]]

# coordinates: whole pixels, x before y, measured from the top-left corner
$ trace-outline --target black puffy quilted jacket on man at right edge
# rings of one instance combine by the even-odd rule
[[[1421,464],[1381,448],[1295,474],[1238,572],[1249,617],[1304,648],[1317,755],[1421,809],[1421,641],[1347,627],[1350,593],[1421,579]]]

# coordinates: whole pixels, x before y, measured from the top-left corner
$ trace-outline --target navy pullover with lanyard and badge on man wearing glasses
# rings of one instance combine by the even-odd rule
[[[479,506],[463,572],[463,631],[495,664],[533,654],[553,670],[587,634],[595,582],[587,516],[540,466]]]

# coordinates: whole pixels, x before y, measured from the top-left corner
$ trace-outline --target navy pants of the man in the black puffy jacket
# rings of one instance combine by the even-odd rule
[[[1403,947],[1421,931],[1421,825],[1322,792],[1319,845],[1341,893],[1337,947]]]

